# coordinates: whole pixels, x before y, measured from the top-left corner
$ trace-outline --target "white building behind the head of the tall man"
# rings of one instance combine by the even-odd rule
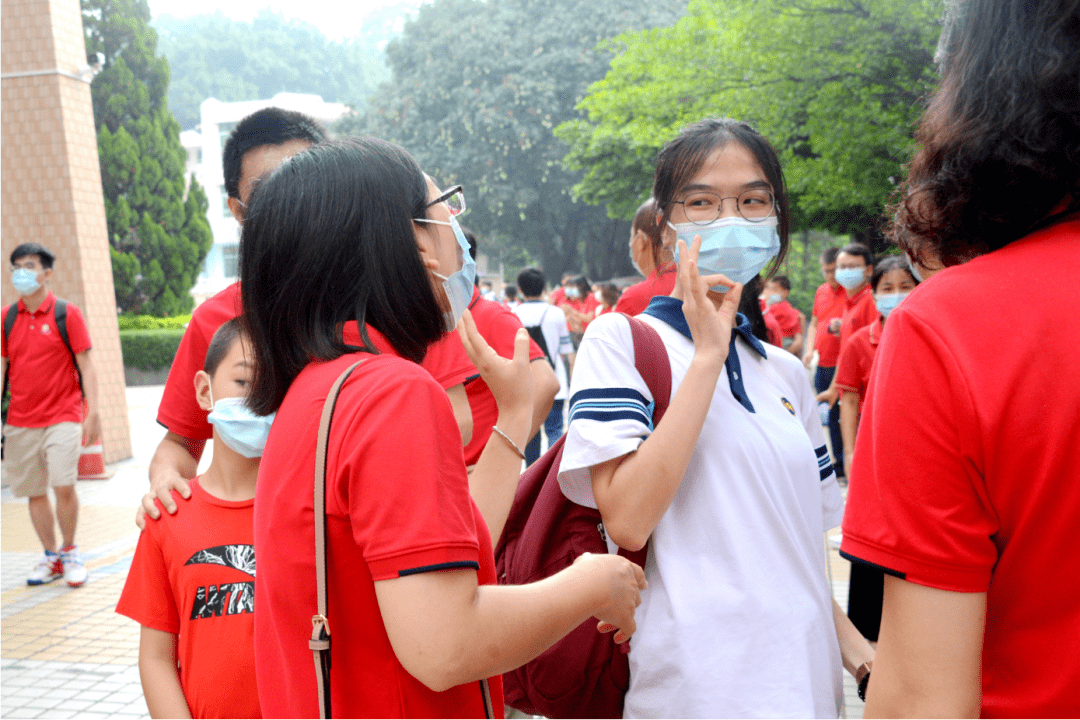
[[[341,103],[324,103],[319,95],[298,93],[279,93],[269,100],[222,103],[212,97],[203,101],[199,130],[180,133],[180,144],[188,152],[187,172],[199,180],[206,192],[210,201],[206,219],[214,233],[214,246],[206,255],[195,286],[191,288],[195,304],[237,280],[240,226],[229,212],[225,175],[221,171],[221,151],[237,123],[256,110],[268,107],[296,110],[327,126],[349,112],[349,108]]]

